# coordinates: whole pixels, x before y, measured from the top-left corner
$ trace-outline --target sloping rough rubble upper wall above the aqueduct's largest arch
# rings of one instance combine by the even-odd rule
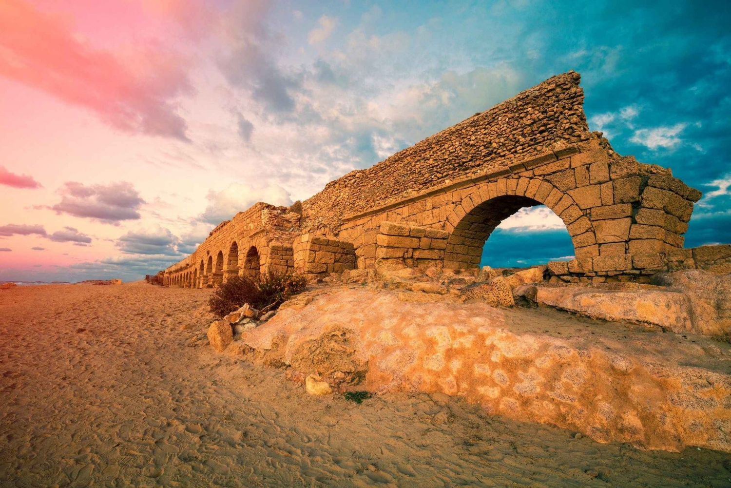
[[[507,169],[557,143],[589,137],[580,75],[556,75],[365,170],[330,181],[303,202],[308,228],[335,228],[356,214],[452,179]]]

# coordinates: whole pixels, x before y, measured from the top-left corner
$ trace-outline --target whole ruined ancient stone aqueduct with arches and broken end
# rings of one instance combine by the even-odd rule
[[[161,271],[163,282],[206,288],[236,274],[393,263],[476,268],[492,230],[540,204],[572,238],[575,259],[554,266],[564,280],[646,281],[697,266],[702,256],[683,249],[683,233],[701,193],[589,132],[579,82],[576,72],[545,80],[331,181],[301,213],[257,203]]]

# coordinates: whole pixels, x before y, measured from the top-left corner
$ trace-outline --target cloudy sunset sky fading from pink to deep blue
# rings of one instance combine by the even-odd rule
[[[140,279],[552,75],[731,242],[731,10],[692,1],[0,0],[0,279]],[[573,253],[522,209],[483,263]]]

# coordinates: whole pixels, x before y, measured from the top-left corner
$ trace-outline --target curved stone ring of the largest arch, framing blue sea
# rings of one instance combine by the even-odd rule
[[[482,247],[504,219],[524,207],[545,205],[563,220],[575,252],[596,244],[591,222],[573,198],[542,178],[505,178],[477,185],[447,216],[450,233],[444,267],[465,269],[480,265]],[[580,253],[580,251],[578,251]]]

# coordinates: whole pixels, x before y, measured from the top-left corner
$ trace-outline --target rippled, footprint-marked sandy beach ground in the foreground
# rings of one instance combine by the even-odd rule
[[[210,290],[0,291],[3,487],[729,487],[731,457],[575,439],[444,395],[357,405],[189,347]]]

